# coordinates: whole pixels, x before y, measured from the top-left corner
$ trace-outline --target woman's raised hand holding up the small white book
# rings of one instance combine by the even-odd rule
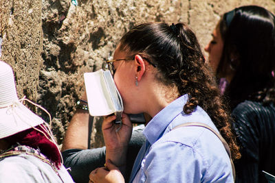
[[[126,164],[128,143],[132,134],[132,123],[126,114],[122,114],[122,126],[115,124],[115,115],[106,117],[102,123],[102,132],[106,145],[106,160],[111,160],[117,167]],[[120,127],[120,130],[117,130]]]

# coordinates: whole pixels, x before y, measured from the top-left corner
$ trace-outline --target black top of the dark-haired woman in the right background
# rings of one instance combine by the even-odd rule
[[[275,175],[275,107],[244,101],[232,111],[234,130],[241,146],[235,162],[236,182],[267,182],[262,171]]]

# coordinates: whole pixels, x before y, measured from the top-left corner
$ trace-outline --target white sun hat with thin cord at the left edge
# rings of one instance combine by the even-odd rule
[[[17,97],[12,67],[0,60],[0,138],[45,123]]]

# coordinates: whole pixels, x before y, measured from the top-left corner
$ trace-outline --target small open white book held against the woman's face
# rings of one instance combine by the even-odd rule
[[[121,123],[123,103],[118,88],[115,86],[110,71],[102,69],[84,73],[89,114],[91,116],[107,116],[115,113],[115,123]]]

